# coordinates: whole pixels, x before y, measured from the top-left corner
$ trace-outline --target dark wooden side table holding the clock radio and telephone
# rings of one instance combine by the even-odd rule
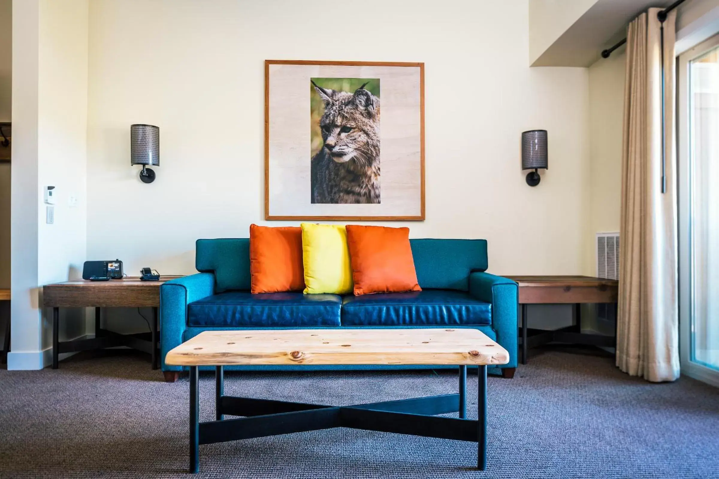
[[[52,307],[52,369],[58,368],[58,354],[74,353],[114,346],[128,346],[152,357],[152,369],[158,368],[157,308],[160,307],[160,284],[180,276],[161,276],[159,281],[140,281],[137,277],[110,281],[68,281],[42,287],[42,304]],[[94,307],[95,338],[72,341],[58,340],[61,307]],[[152,307],[150,340],[122,335],[100,327],[101,308]]]

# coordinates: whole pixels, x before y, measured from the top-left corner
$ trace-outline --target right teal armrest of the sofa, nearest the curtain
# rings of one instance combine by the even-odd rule
[[[492,327],[497,333],[497,343],[509,353],[509,363],[500,367],[516,368],[518,285],[511,279],[477,271],[470,273],[470,294],[492,303]]]

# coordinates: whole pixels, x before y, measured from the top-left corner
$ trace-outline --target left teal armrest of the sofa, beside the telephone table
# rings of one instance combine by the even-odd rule
[[[181,366],[165,364],[168,351],[183,342],[187,328],[187,305],[211,296],[215,289],[215,275],[198,273],[172,279],[160,286],[160,345],[162,371],[181,371]]]

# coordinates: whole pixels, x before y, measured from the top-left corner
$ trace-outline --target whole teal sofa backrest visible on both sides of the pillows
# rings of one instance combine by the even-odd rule
[[[469,291],[470,272],[487,270],[487,240],[411,239],[417,281],[423,289]],[[249,239],[199,239],[195,267],[215,274],[215,292],[247,290]]]

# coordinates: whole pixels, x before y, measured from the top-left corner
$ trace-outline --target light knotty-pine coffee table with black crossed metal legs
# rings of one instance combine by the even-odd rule
[[[165,363],[190,367],[190,472],[199,446],[292,432],[351,427],[477,442],[477,468],[487,465],[487,365],[509,353],[474,329],[205,331],[170,350]],[[326,406],[224,395],[230,365],[457,365],[459,394]],[[215,366],[216,421],[199,422],[198,366]],[[466,419],[467,366],[479,366],[477,420]],[[459,418],[436,417],[459,411]],[[242,416],[224,419],[224,415]]]

